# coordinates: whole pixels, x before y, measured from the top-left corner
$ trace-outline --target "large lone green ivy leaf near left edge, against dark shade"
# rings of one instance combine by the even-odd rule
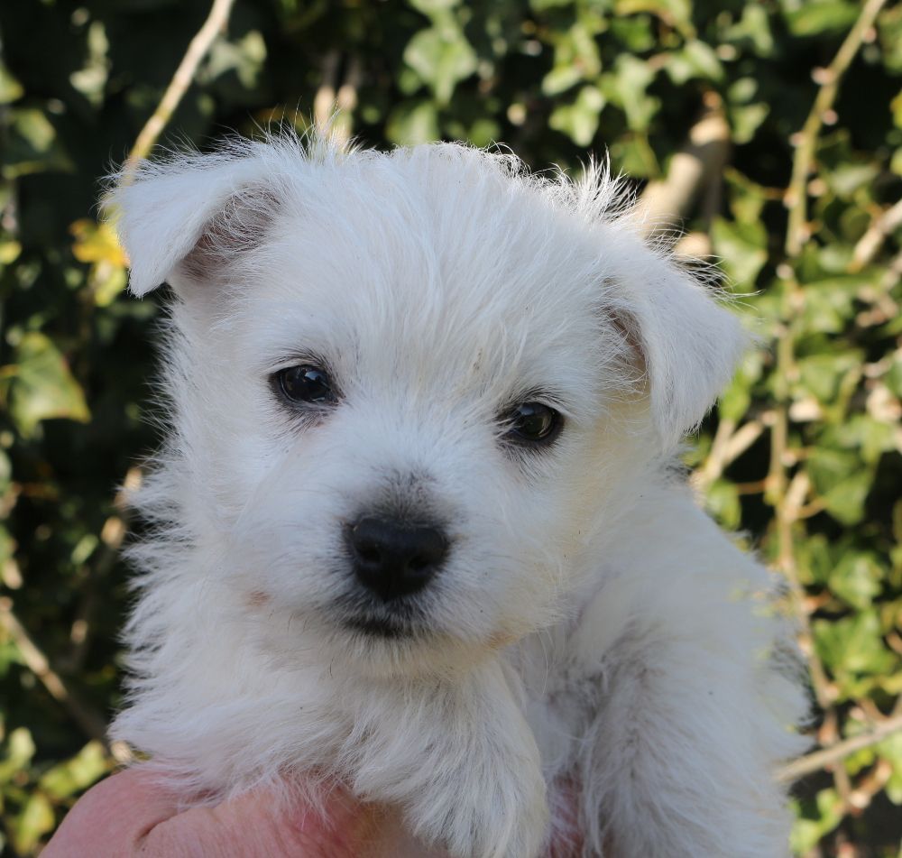
[[[10,412],[24,436],[41,420],[91,419],[85,394],[50,338],[37,331],[23,335],[15,360]]]

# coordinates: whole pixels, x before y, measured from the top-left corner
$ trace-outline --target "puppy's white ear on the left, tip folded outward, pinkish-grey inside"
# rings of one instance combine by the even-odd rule
[[[103,202],[131,263],[139,298],[172,281],[202,281],[259,243],[278,207],[265,158],[236,149],[145,163],[113,179]]]

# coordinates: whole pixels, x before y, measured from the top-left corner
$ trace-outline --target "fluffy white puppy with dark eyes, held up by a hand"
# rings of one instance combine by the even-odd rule
[[[340,779],[460,858],[787,854],[792,648],[674,467],[741,328],[616,182],[281,138],[111,203],[176,296],[115,737],[186,795]]]

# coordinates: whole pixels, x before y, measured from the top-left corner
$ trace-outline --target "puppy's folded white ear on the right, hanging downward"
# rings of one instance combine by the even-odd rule
[[[611,232],[609,306],[644,365],[658,436],[673,447],[713,406],[750,337],[711,287],[639,236]]]

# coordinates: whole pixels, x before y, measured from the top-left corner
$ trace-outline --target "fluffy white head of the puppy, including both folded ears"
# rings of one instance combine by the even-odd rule
[[[452,144],[290,139],[120,183],[132,290],[178,298],[184,574],[243,594],[288,659],[315,640],[391,669],[566,609],[741,350],[616,197]]]

